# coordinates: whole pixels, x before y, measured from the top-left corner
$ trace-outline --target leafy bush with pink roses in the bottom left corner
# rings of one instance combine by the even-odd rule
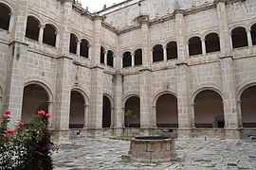
[[[10,111],[5,113],[0,120],[0,169],[53,169],[54,149],[47,129],[50,114],[40,110],[29,124],[19,122],[13,129],[8,127]]]

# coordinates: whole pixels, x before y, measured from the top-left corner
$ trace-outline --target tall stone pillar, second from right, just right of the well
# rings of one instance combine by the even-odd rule
[[[178,107],[178,137],[190,138],[192,128],[192,112],[190,111],[190,76],[188,59],[188,44],[186,41],[186,28],[184,10],[174,10],[178,61],[176,62],[176,90]]]

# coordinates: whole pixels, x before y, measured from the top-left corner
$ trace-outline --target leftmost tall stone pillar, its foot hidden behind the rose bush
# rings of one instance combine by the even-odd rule
[[[28,0],[19,0],[16,3],[15,22],[12,20],[12,31],[10,37],[13,42],[9,43],[10,52],[7,60],[7,70],[5,79],[5,90],[3,90],[2,110],[11,110],[11,119],[9,127],[15,127],[22,114],[22,100],[24,91],[24,73],[27,72],[26,65],[21,60],[27,58],[27,44],[25,33],[27,26]],[[10,26],[11,27],[11,26]]]

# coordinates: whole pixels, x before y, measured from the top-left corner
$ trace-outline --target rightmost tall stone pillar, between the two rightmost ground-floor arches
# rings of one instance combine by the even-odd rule
[[[220,29],[221,46],[221,74],[223,87],[223,107],[226,128],[226,138],[239,138],[237,128],[238,113],[236,102],[236,82],[233,70],[233,58],[231,56],[232,41],[229,34],[226,5],[223,1],[216,1],[217,14]]]

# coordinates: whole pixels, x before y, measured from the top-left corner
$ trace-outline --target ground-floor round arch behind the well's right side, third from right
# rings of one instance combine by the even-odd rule
[[[174,91],[164,90],[155,94],[153,115],[156,127],[178,127],[177,97]]]

